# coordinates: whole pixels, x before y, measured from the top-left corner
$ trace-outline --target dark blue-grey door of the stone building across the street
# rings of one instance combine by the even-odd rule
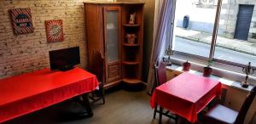
[[[235,38],[247,41],[254,5],[239,5],[236,20]]]

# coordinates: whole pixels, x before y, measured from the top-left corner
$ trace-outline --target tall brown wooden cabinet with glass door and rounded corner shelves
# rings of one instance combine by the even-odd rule
[[[104,58],[104,86],[141,82],[143,54],[143,3],[84,3],[88,67],[93,70],[96,52]],[[134,11],[135,10],[135,11]],[[136,24],[129,25],[131,13]],[[136,34],[128,43],[127,33]]]

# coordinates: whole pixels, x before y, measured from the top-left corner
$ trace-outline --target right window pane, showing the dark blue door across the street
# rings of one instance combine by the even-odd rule
[[[218,23],[215,59],[256,65],[255,1],[223,0]]]

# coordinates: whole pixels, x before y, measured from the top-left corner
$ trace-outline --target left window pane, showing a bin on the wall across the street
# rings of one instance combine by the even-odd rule
[[[217,1],[177,0],[173,49],[208,57]]]

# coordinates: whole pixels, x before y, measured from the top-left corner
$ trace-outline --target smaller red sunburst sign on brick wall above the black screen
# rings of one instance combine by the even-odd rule
[[[62,20],[45,20],[45,26],[48,42],[64,41]]]

